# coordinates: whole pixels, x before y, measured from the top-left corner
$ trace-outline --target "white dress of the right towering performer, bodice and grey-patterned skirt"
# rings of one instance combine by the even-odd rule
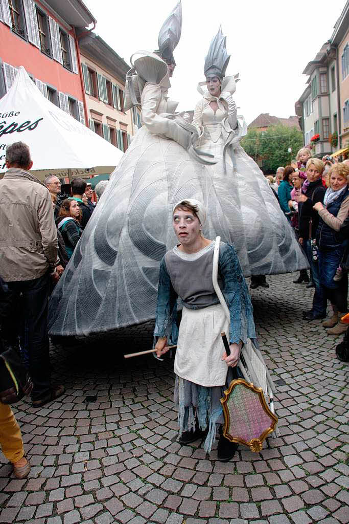
[[[216,101],[216,113],[210,106]],[[206,167],[210,171],[218,202],[209,202],[208,215],[214,217],[213,227],[219,230],[222,215],[222,240],[234,244],[245,276],[268,275],[306,268],[307,260],[292,228],[255,161],[240,146],[246,132],[243,117],[238,116],[231,127],[226,101],[208,92],[195,108],[193,124],[200,134],[198,147],[215,155],[219,161]],[[231,146],[224,147],[229,140]],[[225,156],[226,169],[223,165]],[[212,236],[212,233],[211,233]]]

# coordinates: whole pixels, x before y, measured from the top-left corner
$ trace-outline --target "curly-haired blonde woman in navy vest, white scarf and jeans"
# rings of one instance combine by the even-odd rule
[[[330,335],[340,335],[347,328],[347,324],[341,322],[341,318],[347,311],[348,279],[346,272],[343,272],[342,278],[337,279],[336,272],[347,245],[347,239],[343,240],[339,231],[349,212],[349,166],[344,163],[334,164],[328,177],[329,188],[323,204],[317,202],[313,208],[319,214],[316,243],[320,282],[324,290],[324,300],[330,299],[333,307],[333,316],[323,325],[325,328],[331,328],[328,330]]]

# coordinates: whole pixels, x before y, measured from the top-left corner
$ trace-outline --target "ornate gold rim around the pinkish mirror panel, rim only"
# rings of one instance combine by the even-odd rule
[[[230,411],[228,408],[228,401],[231,395],[233,394],[234,389],[238,386],[239,387],[243,386],[250,393],[253,392],[253,394],[258,395],[260,404],[266,416],[271,420],[270,425],[266,427],[260,435],[254,436],[250,440],[239,438],[239,436],[233,436],[233,433],[231,433],[232,430],[230,428],[231,421],[230,421]],[[252,383],[247,382],[245,379],[238,378],[238,379],[231,381],[229,388],[226,389],[226,391],[224,391],[224,398],[221,398],[220,401],[221,401],[223,413],[224,413],[223,436],[226,439],[230,440],[230,442],[244,444],[245,446],[248,446],[251,451],[255,453],[259,453],[262,450],[263,442],[265,441],[267,436],[275,430],[276,424],[278,422],[278,418],[276,417],[274,413],[272,413],[272,411],[269,409],[265,401],[262,388],[257,388]],[[266,423],[266,420],[264,421],[264,423]]]

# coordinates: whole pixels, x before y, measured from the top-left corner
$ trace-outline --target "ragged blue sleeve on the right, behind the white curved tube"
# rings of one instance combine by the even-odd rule
[[[230,311],[230,343],[241,340],[245,344],[247,339],[256,338],[253,307],[237,253],[229,244],[220,246],[219,273]]]

